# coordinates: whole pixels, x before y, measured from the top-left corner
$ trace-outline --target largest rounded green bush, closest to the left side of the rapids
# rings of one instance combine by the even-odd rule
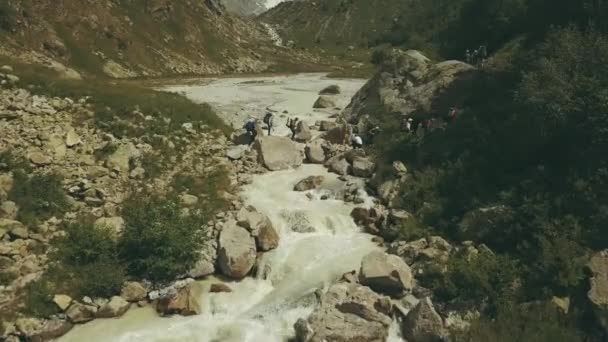
[[[130,275],[170,281],[194,266],[205,221],[198,215],[183,215],[178,199],[133,195],[122,213],[125,230],[119,252]]]

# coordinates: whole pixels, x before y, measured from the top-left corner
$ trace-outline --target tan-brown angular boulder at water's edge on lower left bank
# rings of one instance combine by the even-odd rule
[[[156,310],[163,316],[182,315],[193,316],[201,313],[200,298],[203,294],[203,286],[192,282],[177,290],[177,293],[161,298]]]

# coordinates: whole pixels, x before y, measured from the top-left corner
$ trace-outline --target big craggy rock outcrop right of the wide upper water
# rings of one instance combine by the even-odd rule
[[[475,69],[462,62],[432,64],[418,51],[394,50],[380,70],[357,92],[343,115],[358,122],[369,113],[401,116],[428,113],[443,117],[449,108],[461,105],[473,94]]]

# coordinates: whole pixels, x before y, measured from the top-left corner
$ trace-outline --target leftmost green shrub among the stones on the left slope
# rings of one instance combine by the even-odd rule
[[[61,186],[61,177],[56,174],[28,175],[23,170],[17,170],[8,196],[19,206],[18,219],[31,225],[53,216],[62,216],[69,206]]]

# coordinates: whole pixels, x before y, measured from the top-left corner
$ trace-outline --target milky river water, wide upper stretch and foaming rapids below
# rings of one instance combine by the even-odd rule
[[[318,91],[329,84],[340,84],[343,93],[337,100],[344,106],[362,84],[360,80],[325,80],[321,75],[262,78],[262,82],[246,86],[242,81],[220,80],[169,90],[183,91],[195,101],[210,102],[227,122],[237,124],[246,115],[261,118],[269,103],[279,113],[287,112],[281,122],[295,116],[329,119],[336,110],[312,110]],[[284,124],[278,124],[274,134],[289,133]],[[319,175],[325,177],[320,188],[293,191],[301,179]],[[231,293],[205,293],[201,300],[203,312],[198,316],[160,318],[150,307],[131,309],[120,319],[78,326],[60,341],[289,340],[295,334],[294,323],[315,308],[315,291],[326,289],[342,274],[358,269],[365,255],[380,248],[350,217],[355,205],[343,201],[345,184],[321,165],[305,164],[298,169],[252,175],[252,182],[241,187],[245,205],[267,215],[280,236],[279,247],[259,260],[256,277],[226,282]],[[372,198],[363,197],[364,203],[359,206],[373,205]],[[307,229],[295,228],[303,226]],[[210,277],[201,283],[208,286],[217,281],[223,280]],[[392,330],[389,341],[401,341],[397,329]]]

